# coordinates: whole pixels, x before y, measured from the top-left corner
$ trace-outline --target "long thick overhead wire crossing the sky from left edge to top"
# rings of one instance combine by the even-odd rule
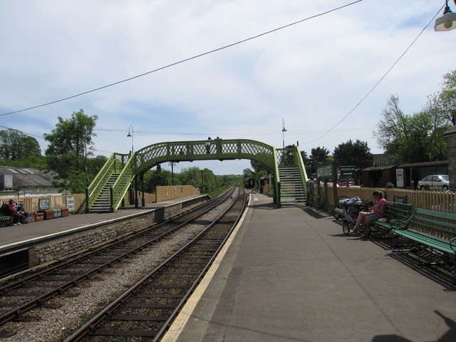
[[[273,32],[276,32],[276,31],[279,31],[279,30],[282,30],[284,28],[288,28],[290,26],[294,26],[296,24],[301,24],[302,22],[304,21],[308,21],[310,19],[315,19],[317,18],[318,16],[324,16],[326,14],[330,14],[331,12],[333,11],[338,11],[339,9],[344,9],[348,6],[351,6],[353,4],[357,4],[358,2],[361,2],[363,0],[357,0],[357,1],[353,1],[349,4],[346,4],[346,5],[343,5],[343,6],[339,6],[339,7],[336,7],[335,9],[331,9],[329,11],[326,11],[326,12],[323,12],[321,14],[316,14],[314,16],[309,16],[308,18],[306,19],[301,19],[299,21],[295,21],[294,23],[291,23],[291,24],[287,24],[285,26],[281,26],[279,28],[274,28],[273,30],[271,31],[266,31],[264,33],[260,33],[258,34],[257,36],[252,36],[250,38],[246,38],[246,39],[243,39],[242,41],[238,41],[237,43],[232,43],[232,44],[229,44],[229,45],[226,45],[226,46],[222,46],[221,48],[215,48],[214,50],[211,50],[211,51],[207,51],[207,52],[204,52],[204,53],[200,53],[199,55],[196,55],[196,56],[193,56],[193,57],[190,57],[190,58],[186,58],[186,59],[182,59],[181,61],[178,61],[178,62],[175,62],[175,63],[171,63],[171,64],[168,64],[167,66],[162,66],[160,68],[157,68],[157,69],[154,69],[152,71],[147,71],[147,73],[142,73],[138,76],[133,76],[133,77],[130,77],[130,78],[126,78],[125,80],[123,81],[118,81],[118,82],[115,82],[115,83],[110,83],[106,86],[101,86],[101,87],[98,87],[98,88],[95,88],[95,89],[92,89],[92,90],[87,90],[87,91],[84,91],[83,93],[79,93],[79,94],[76,94],[76,95],[72,95],[72,96],[68,96],[67,98],[61,98],[60,100],[55,100],[55,101],[51,101],[51,102],[48,102],[48,103],[43,103],[42,105],[34,105],[33,107],[29,107],[29,108],[25,108],[25,109],[21,109],[21,110],[15,110],[14,112],[10,112],[10,113],[4,113],[4,114],[0,114],[0,116],[4,116],[4,115],[11,115],[11,114],[16,114],[16,113],[21,113],[21,112],[24,112],[26,110],[31,110],[31,109],[36,109],[36,108],[40,108],[40,107],[44,107],[46,105],[53,105],[54,103],[59,103],[59,102],[62,102],[62,101],[65,101],[65,100],[70,100],[71,98],[77,98],[78,96],[81,96],[81,95],[86,95],[88,93],[93,93],[97,90],[102,90],[102,89],[105,89],[105,88],[109,88],[109,87],[112,87],[112,86],[117,86],[118,84],[120,83],[125,83],[125,82],[128,82],[128,81],[132,81],[134,80],[135,78],[140,78],[142,76],[147,76],[149,75],[150,73],[156,73],[157,71],[162,71],[163,69],[166,69],[166,68],[170,68],[172,66],[177,66],[178,64],[181,64],[181,63],[185,63],[185,62],[188,62],[188,61],[192,61],[193,59],[195,58],[199,58],[199,57],[202,57],[202,56],[206,56],[206,55],[209,55],[210,53],[214,53],[214,52],[217,52],[217,51],[221,51],[221,50],[224,50],[226,48],[231,48],[232,46],[237,46],[239,44],[242,44],[242,43],[245,43],[247,41],[252,41],[253,39],[256,39],[256,38],[259,38],[261,36],[266,36],[266,34],[269,34],[269,33],[273,33]]]

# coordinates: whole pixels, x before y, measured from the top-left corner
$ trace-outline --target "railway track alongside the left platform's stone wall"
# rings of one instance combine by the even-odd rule
[[[36,308],[58,308],[60,304],[53,301],[56,296],[67,295],[71,289],[81,286],[90,279],[103,276],[108,269],[112,269],[125,259],[146,253],[174,235],[184,234],[183,232],[188,230],[188,227],[195,226],[195,222],[198,222],[205,214],[227,201],[232,202],[235,192],[239,192],[239,187],[233,187],[224,195],[169,222],[141,229],[127,237],[105,244],[103,247],[92,249],[61,264],[53,265],[49,269],[43,269],[21,277],[21,279],[10,281],[9,284],[4,284],[0,287],[0,325],[7,325],[6,323],[11,321],[39,320],[40,316],[27,313]],[[195,228],[193,230],[195,231]],[[170,250],[177,248],[180,246],[171,247]],[[15,333],[14,329],[6,328],[0,330],[0,337],[14,336]]]

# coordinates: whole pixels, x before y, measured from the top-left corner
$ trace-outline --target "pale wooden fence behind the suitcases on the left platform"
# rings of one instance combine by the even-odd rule
[[[66,197],[73,197],[74,212],[81,213],[86,210],[86,195],[33,195],[33,196],[2,196],[0,201],[3,204],[13,199],[14,202],[24,202],[24,207],[27,212],[37,212],[39,210],[38,203],[40,199],[49,199],[49,209],[58,209],[66,207]]]

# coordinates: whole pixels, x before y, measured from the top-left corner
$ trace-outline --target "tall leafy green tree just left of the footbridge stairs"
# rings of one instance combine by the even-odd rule
[[[93,155],[93,140],[97,115],[88,116],[83,110],[73,113],[70,119],[58,117],[51,133],[45,134],[49,142],[46,149],[48,167],[60,176],[62,190],[83,193],[90,183],[88,159]]]

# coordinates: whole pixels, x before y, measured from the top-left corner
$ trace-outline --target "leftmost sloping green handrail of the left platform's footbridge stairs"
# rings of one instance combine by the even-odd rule
[[[103,190],[106,182],[108,182],[110,175],[115,173],[116,170],[121,169],[121,165],[123,165],[125,157],[127,157],[127,155],[113,153],[110,157],[108,157],[105,165],[103,165],[100,172],[98,172],[98,175],[93,178],[93,181],[86,189],[86,212],[90,210],[90,207],[92,207],[95,199],[97,199],[98,195],[100,195],[100,192]]]

